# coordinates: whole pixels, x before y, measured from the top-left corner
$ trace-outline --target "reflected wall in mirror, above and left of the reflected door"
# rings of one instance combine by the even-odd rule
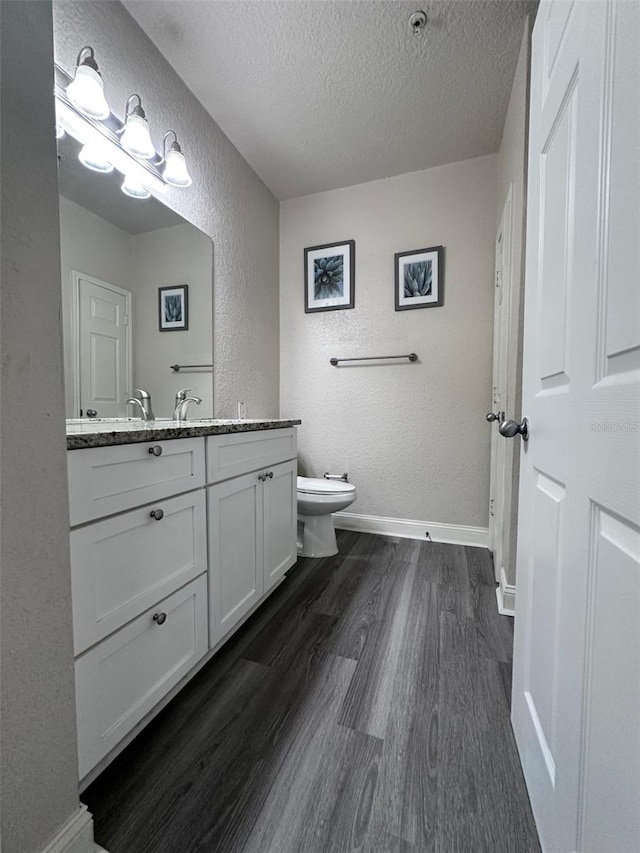
[[[131,290],[133,241],[130,234],[60,196],[60,266],[62,277],[62,328],[64,338],[65,409],[73,410],[73,279],[72,270]]]

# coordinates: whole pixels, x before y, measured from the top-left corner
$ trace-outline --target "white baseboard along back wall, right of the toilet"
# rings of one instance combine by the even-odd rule
[[[473,545],[487,548],[487,527],[468,527],[463,524],[441,524],[434,521],[412,521],[407,518],[384,518],[378,515],[359,515],[355,512],[336,512],[333,521],[340,530],[357,530],[360,533],[378,533],[381,536],[399,536],[403,539],[425,539],[428,531],[434,542],[452,545]]]

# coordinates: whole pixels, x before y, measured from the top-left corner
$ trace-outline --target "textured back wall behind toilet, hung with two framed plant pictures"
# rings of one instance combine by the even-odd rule
[[[487,525],[495,167],[491,155],[281,205],[281,411],[303,419],[306,473],[349,472],[353,512]],[[304,247],[350,238],[355,309],[305,314]],[[440,244],[444,306],[395,312],[394,252]],[[329,364],[411,351],[419,363]]]

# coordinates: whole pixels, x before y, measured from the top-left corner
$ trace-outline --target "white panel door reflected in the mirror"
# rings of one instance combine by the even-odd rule
[[[78,304],[78,415],[126,415],[132,384],[128,290],[73,271]]]

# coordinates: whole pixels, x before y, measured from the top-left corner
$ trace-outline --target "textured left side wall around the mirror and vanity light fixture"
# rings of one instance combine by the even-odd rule
[[[75,68],[90,44],[112,109],[142,97],[160,149],[174,129],[193,186],[168,188],[169,207],[214,242],[214,407],[218,417],[278,414],[278,202],[118,2],[56,0],[56,62]]]

